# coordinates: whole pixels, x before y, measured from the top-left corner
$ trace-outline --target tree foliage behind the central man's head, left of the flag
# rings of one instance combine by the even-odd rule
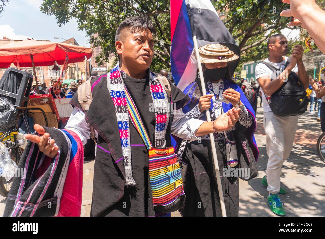
[[[103,52],[96,58],[99,65],[115,53],[115,31],[126,18],[139,14],[151,18],[157,29],[154,71],[170,69],[170,2],[164,0],[44,0],[41,11],[54,15],[59,26],[72,18],[79,30],[85,30],[90,44],[101,46]],[[94,37],[94,34],[98,34]],[[159,72],[158,71],[158,72]]]

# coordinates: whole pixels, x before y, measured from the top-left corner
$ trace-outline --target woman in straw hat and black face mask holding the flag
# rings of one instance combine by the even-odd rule
[[[209,108],[211,120],[214,120],[232,107],[240,107],[240,119],[236,126],[226,133],[214,133],[227,216],[238,216],[237,176],[240,175],[227,173],[231,171],[230,168],[236,168],[239,161],[233,133],[238,128],[244,127],[254,154],[253,158],[256,159],[258,150],[253,139],[256,128],[255,113],[240,87],[231,79],[230,66],[231,69],[236,68],[239,56],[228,47],[219,44],[202,46],[199,53],[207,95],[201,96],[201,83],[200,79],[197,79],[184,91],[191,101],[183,111],[188,118],[206,120],[205,110]],[[179,155],[184,151],[182,174],[186,205],[181,211],[183,216],[222,216],[210,138],[188,143],[186,149],[181,146],[179,151]]]

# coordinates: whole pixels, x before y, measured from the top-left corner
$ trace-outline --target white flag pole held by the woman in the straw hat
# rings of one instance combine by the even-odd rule
[[[196,59],[198,61],[198,66],[199,66],[200,80],[201,80],[201,86],[202,86],[202,94],[206,95],[203,70],[202,70],[201,59],[200,59],[200,54],[199,54],[199,47],[198,47],[198,42],[196,40],[196,36],[193,36],[193,42],[194,42],[194,47],[195,47]],[[211,122],[210,109],[206,109],[205,112],[206,112],[207,121]],[[221,212],[222,212],[223,217],[227,217],[226,207],[225,207],[225,199],[223,197],[223,190],[222,190],[222,184],[221,184],[221,178],[220,178],[217,151],[215,149],[215,142],[214,142],[213,133],[210,134],[210,140],[211,140],[211,149],[212,149],[212,156],[213,156],[213,161],[214,161],[215,175],[217,177],[217,184],[218,184],[218,191],[219,191],[219,197],[220,197]]]

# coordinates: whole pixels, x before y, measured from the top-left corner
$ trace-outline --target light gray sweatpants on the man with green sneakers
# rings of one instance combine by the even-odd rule
[[[266,169],[267,191],[279,193],[280,173],[284,160],[289,158],[298,127],[299,116],[280,117],[264,112],[264,130],[268,164]]]

